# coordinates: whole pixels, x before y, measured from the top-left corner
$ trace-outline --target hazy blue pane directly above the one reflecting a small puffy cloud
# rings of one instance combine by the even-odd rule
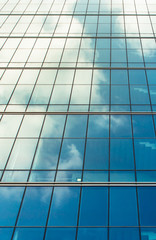
[[[76,138],[85,137],[86,135],[87,116],[70,115],[68,116],[65,137]]]

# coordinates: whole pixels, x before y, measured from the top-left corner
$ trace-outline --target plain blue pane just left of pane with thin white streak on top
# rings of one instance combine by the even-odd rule
[[[129,104],[129,89],[125,85],[111,86],[111,104]]]

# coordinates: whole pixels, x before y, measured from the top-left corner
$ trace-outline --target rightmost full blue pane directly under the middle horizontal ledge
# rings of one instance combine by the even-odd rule
[[[133,115],[134,137],[155,137],[152,116]]]

